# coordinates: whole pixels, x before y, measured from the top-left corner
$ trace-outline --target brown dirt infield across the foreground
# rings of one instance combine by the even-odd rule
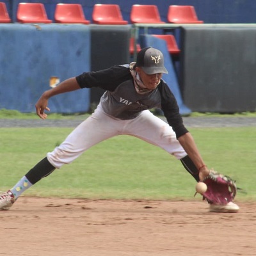
[[[256,255],[255,204],[21,197],[0,211],[0,255]]]

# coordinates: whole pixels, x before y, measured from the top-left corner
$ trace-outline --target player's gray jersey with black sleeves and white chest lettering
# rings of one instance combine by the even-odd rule
[[[81,88],[99,87],[106,90],[100,98],[100,104],[108,115],[129,120],[136,118],[143,110],[161,108],[177,138],[188,132],[180,116],[177,100],[163,79],[155,90],[145,94],[136,92],[129,65],[84,72],[76,80]]]

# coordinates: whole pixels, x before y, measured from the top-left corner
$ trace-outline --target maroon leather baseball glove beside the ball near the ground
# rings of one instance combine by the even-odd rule
[[[222,175],[214,170],[210,170],[203,182],[207,185],[207,191],[203,193],[203,200],[207,200],[210,204],[225,205],[231,202],[237,192],[236,180]]]

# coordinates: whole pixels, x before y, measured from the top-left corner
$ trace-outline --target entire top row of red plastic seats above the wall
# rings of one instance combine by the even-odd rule
[[[131,24],[134,23],[165,23],[161,20],[156,5],[134,4],[131,8]],[[56,4],[54,13],[56,23],[65,24],[90,24],[86,20],[81,4]],[[193,6],[170,5],[167,13],[170,23],[203,23],[198,17]],[[11,19],[4,3],[0,3],[0,23],[10,23]],[[52,23],[48,19],[42,3],[19,3],[17,9],[17,22],[20,23]],[[92,22],[94,24],[128,24],[122,17],[118,4],[95,4],[93,6]]]

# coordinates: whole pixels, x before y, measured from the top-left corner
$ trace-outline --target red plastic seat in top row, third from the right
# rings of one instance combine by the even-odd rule
[[[92,20],[95,24],[126,25],[118,4],[95,4],[92,12]]]

